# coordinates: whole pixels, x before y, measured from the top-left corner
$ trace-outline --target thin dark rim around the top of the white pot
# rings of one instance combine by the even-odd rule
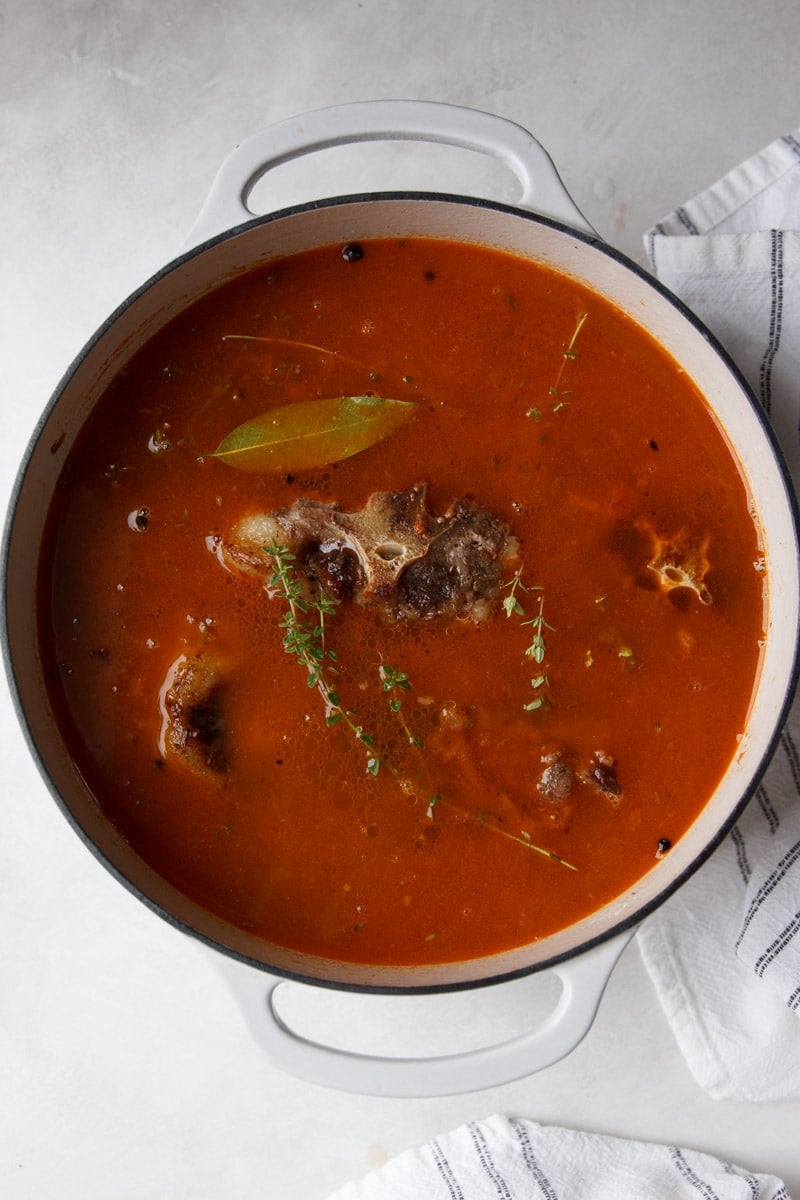
[[[200,943],[207,946],[218,953],[222,953],[239,962],[247,966],[254,967],[258,971],[265,972],[267,974],[277,976],[284,979],[290,979],[297,983],[309,984],[313,986],[327,988],[336,991],[349,991],[349,992],[367,992],[374,995],[433,995],[451,991],[463,991],[468,989],[491,986],[494,984],[506,983],[513,979],[524,978],[530,974],[552,970],[561,962],[566,962],[573,958],[588,953],[596,946],[608,942],[613,937],[625,932],[626,930],[632,930],[638,925],[644,918],[649,917],[655,912],[661,905],[680,888],[711,856],[711,853],[717,848],[717,846],[728,835],[735,822],[739,820],[741,812],[747,806],[752,799],[753,793],[759,786],[760,779],[769,766],[770,760],[778,744],[786,718],[788,715],[789,707],[798,685],[798,679],[800,677],[800,654],[798,649],[798,637],[794,640],[794,654],[792,667],[787,678],[787,684],[784,688],[784,694],[781,700],[777,715],[772,722],[771,734],[769,737],[768,744],[764,748],[758,764],[752,770],[752,778],[750,782],[742,788],[741,796],[736,804],[727,812],[724,820],[715,830],[714,835],[705,840],[700,850],[692,857],[691,862],[676,875],[667,878],[662,887],[658,888],[657,893],[649,900],[640,902],[633,912],[622,917],[619,920],[612,922],[608,928],[602,929],[600,932],[587,937],[581,941],[577,946],[570,947],[565,950],[553,953],[547,959],[542,961],[525,964],[521,967],[515,967],[512,970],[501,970],[497,973],[489,973],[481,976],[479,978],[465,978],[456,979],[446,983],[368,983],[368,982],[353,982],[349,979],[329,979],[324,977],[315,976],[313,973],[307,973],[303,971],[294,971],[283,965],[273,965],[270,962],[264,962],[259,959],[254,959],[251,955],[237,950],[234,947],[225,946],[224,943],[217,941],[209,934],[203,932],[199,929],[193,928],[184,918],[178,917],[175,913],[170,912],[164,905],[154,900],[138,883],[132,881],[126,876],[126,874],[104,853],[103,850],[95,842],[91,834],[84,829],[80,821],[72,811],[66,799],[61,796],[56,784],[50,778],[49,772],[43,762],[38,746],[32,737],[28,716],[25,714],[24,704],[19,692],[13,656],[8,636],[8,605],[7,595],[10,589],[10,572],[8,572],[8,553],[10,544],[13,533],[14,518],[17,512],[17,506],[20,497],[22,488],[25,482],[28,468],[30,464],[31,456],[38,440],[42,436],[43,428],[47,425],[49,416],[60,402],[64,392],[70,385],[73,376],[85,361],[86,358],[94,352],[95,347],[101,342],[101,340],[113,329],[120,317],[127,312],[139,299],[142,299],[149,290],[157,286],[162,280],[167,278],[175,270],[180,269],[191,260],[198,258],[199,256],[213,251],[213,248],[223,242],[229,241],[237,235],[246,233],[251,229],[269,226],[273,222],[284,220],[287,217],[297,216],[301,214],[308,214],[317,210],[335,208],[335,206],[348,206],[354,204],[365,203],[380,203],[380,202],[403,202],[403,203],[447,203],[464,205],[473,209],[486,209],[489,211],[503,212],[511,217],[518,217],[527,222],[533,222],[542,224],[554,229],[559,233],[567,235],[579,242],[583,242],[588,247],[599,253],[610,258],[619,266],[632,272],[638,281],[646,288],[654,290],[669,305],[672,305],[680,317],[684,318],[693,330],[700,335],[705,341],[711,353],[714,353],[724,366],[728,374],[738,384],[742,396],[750,403],[760,430],[769,444],[775,464],[777,467],[781,481],[783,484],[786,499],[790,515],[790,523],[794,532],[795,546],[800,544],[800,505],[794,492],[792,479],[789,475],[788,466],[783,455],[783,451],[777,442],[775,431],[772,430],[766,414],[764,413],[762,406],[745,379],[742,372],[739,370],[732,356],[724,349],[718,338],[708,329],[708,326],[698,318],[687,305],[680,300],[673,292],[669,290],[663,283],[661,283],[655,276],[650,275],[643,266],[631,259],[627,254],[616,250],[614,246],[603,241],[600,236],[585,233],[581,229],[576,229],[563,221],[555,220],[553,217],[543,216],[542,214],[534,212],[529,209],[518,208],[513,204],[507,204],[500,200],[488,199],[483,197],[470,197],[462,196],[457,193],[447,193],[439,191],[380,191],[380,192],[361,192],[351,194],[342,194],[326,197],[323,199],[305,202],[301,204],[289,205],[283,209],[278,209],[273,212],[269,212],[260,216],[253,216],[252,218],[243,221],[239,224],[233,226],[213,236],[182,250],[175,258],[168,260],[163,266],[158,268],[152,275],[150,275],[139,287],[131,292],[102,322],[102,324],[95,330],[91,337],[84,343],[80,350],[76,354],[72,362],[68,365],[64,374],[61,376],[59,383],[53,390],[44,409],[42,410],[34,432],[28,442],[25,451],[23,454],[19,468],[17,470],[14,485],[11,492],[8,509],[6,511],[6,517],[4,522],[2,530],[2,545],[0,553],[0,642],[2,646],[2,658],[4,666],[6,671],[6,678],[8,680],[10,691],[12,696],[12,702],[17,720],[19,721],[20,728],[23,731],[24,738],[28,743],[29,751],[36,763],[38,772],[50,792],[52,797],[56,802],[58,808],[61,810],[64,816],[67,818],[68,823],[73,830],[78,834],[84,845],[90,850],[96,859],[112,874],[112,876],[121,883],[131,894],[133,894],[138,900],[140,900],[148,908],[160,916],[169,925],[178,929],[182,934],[191,936],[192,938],[199,941]],[[431,235],[434,236],[434,235]],[[452,240],[458,240],[453,236]],[[513,253],[513,251],[505,251],[506,253]],[[590,284],[589,284],[590,286]],[[192,300],[188,301],[190,304]],[[301,956],[302,958],[302,956]],[[479,961],[486,961],[487,966],[491,967],[491,956],[481,959]],[[348,964],[349,965],[349,964]],[[456,964],[453,964],[455,966]],[[446,966],[446,965],[445,965]],[[359,970],[361,965],[353,965],[354,970]],[[368,971],[369,966],[363,965],[363,970]],[[385,968],[380,968],[385,970]],[[387,968],[386,968],[387,970]],[[427,968],[420,967],[414,968],[425,973]]]

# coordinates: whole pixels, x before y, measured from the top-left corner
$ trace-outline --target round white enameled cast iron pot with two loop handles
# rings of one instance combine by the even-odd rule
[[[248,196],[270,168],[319,149],[387,138],[450,144],[503,160],[522,184],[519,206],[391,192],[252,217]],[[47,697],[35,608],[38,547],[59,473],[96,400],[148,337],[221,282],[277,256],[414,235],[476,242],[545,262],[609,298],[669,350],[706,397],[748,481],[764,530],[769,612],[744,742],[704,811],[669,856],[613,904],[552,937],[495,956],[411,970],[343,965],[266,944],[191,902],[142,862],[103,816],[61,739]],[[584,1036],[632,930],[720,842],[772,751],[795,678],[799,611],[798,523],[781,456],[757,403],[709,332],[596,238],[529,133],[486,113],[386,101],[321,109],[266,128],[223,163],[188,245],[109,317],[73,362],[19,473],[4,554],[5,654],[32,754],[76,832],[106,866],[162,917],[223,952],[219,964],[254,1031],[284,1069],[338,1088],[393,1096],[469,1091],[540,1069]],[[287,976],[332,988],[420,992],[498,983],[543,968],[553,970],[563,985],[543,1025],[499,1045],[434,1058],[372,1057],[320,1045],[289,1028],[273,1004],[275,989]]]

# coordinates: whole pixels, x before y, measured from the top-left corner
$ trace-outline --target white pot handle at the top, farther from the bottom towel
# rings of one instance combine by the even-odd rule
[[[383,100],[318,108],[241,142],[222,163],[185,248],[251,220],[249,193],[273,167],[315,150],[387,140],[434,142],[500,158],[522,184],[521,206],[595,234],[551,156],[521,125],[458,104]]]

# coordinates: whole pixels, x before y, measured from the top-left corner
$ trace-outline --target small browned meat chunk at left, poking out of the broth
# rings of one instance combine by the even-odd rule
[[[161,750],[200,774],[228,767],[222,715],[223,674],[207,653],[181,654],[161,689]]]

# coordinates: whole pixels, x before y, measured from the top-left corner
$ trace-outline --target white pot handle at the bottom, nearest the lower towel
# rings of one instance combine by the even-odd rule
[[[610,973],[633,932],[626,930],[552,967],[561,995],[536,1028],[497,1045],[440,1057],[381,1057],[312,1042],[277,1013],[275,997],[284,979],[227,956],[221,966],[257,1042],[270,1062],[287,1074],[361,1096],[456,1096],[510,1084],[575,1050],[589,1032]]]

